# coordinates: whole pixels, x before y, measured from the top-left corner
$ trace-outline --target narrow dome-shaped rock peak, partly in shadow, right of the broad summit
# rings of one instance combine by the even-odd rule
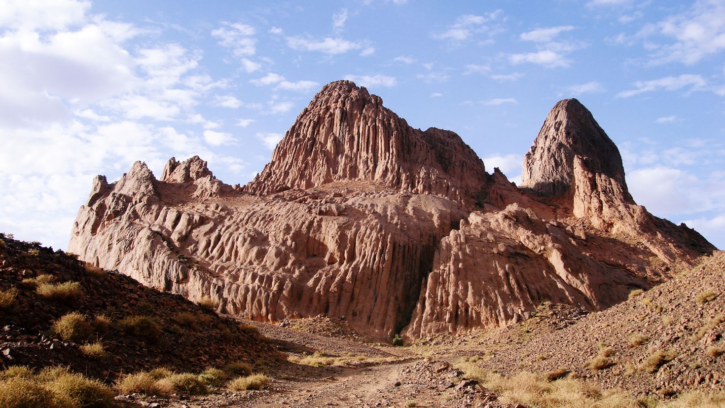
[[[567,193],[573,183],[575,157],[584,160],[590,172],[607,176],[626,192],[617,146],[576,99],[558,101],[550,110],[523,160],[521,186],[544,196]]]

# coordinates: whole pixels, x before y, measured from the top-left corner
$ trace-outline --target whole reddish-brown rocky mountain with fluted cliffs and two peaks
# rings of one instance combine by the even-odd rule
[[[634,203],[614,143],[558,103],[517,188],[455,133],[407,125],[328,84],[247,186],[199,157],[157,180],[136,162],[94,180],[69,251],[252,320],[326,314],[376,338],[495,327],[542,301],[623,301],[714,247]]]

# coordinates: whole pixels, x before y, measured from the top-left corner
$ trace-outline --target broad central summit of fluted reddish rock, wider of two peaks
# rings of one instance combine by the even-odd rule
[[[362,180],[472,204],[486,177],[484,163],[455,133],[411,128],[379,96],[342,80],[324,86],[302,110],[244,190],[267,194]]]

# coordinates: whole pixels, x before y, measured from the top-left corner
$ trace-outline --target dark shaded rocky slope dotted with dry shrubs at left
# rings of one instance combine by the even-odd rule
[[[47,282],[56,288],[54,293],[49,286],[41,288]],[[283,361],[254,328],[219,317],[182,296],[84,265],[73,254],[2,234],[0,293],[4,367],[67,365],[115,380],[123,373],[161,367],[199,372],[237,361]],[[7,293],[14,293],[12,301]],[[88,322],[76,323],[69,339],[51,327],[70,313],[80,313]],[[130,325],[128,319],[138,317],[145,323]],[[85,344],[96,343],[103,346],[103,355],[83,350]]]

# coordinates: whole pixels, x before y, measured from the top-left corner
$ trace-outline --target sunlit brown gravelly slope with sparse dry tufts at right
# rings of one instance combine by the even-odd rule
[[[723,390],[724,274],[718,251],[692,272],[480,364],[505,375],[564,369],[636,394]],[[590,369],[602,348],[610,349],[607,364]]]

